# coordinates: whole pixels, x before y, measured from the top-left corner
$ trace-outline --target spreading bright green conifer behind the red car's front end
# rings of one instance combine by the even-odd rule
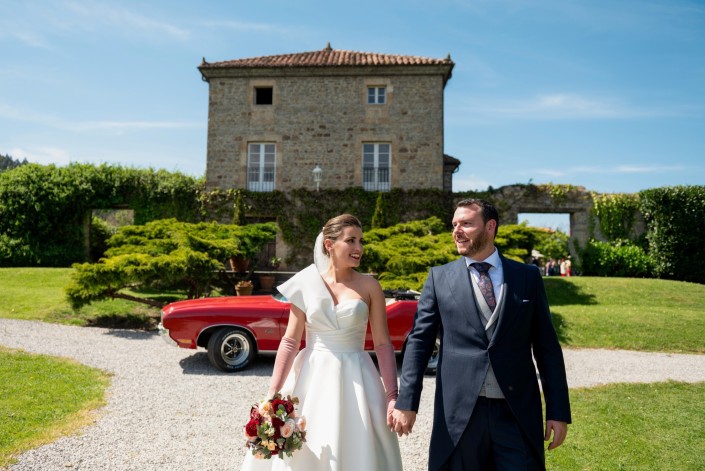
[[[189,298],[207,294],[231,256],[251,257],[276,237],[276,223],[237,226],[162,219],[124,226],[108,240],[106,257],[74,264],[66,294],[74,308],[122,298],[162,307],[163,303],[126,292],[132,288],[184,288]]]

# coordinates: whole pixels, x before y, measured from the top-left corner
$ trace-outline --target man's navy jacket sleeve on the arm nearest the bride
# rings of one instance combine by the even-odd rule
[[[436,344],[440,314],[434,288],[435,268],[429,272],[416,308],[414,326],[406,343],[404,361],[399,380],[399,397],[396,408],[419,410],[423,377]]]

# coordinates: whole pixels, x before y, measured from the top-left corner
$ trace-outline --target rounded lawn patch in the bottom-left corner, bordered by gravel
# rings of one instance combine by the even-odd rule
[[[0,346],[0,468],[90,423],[109,383],[95,368]]]

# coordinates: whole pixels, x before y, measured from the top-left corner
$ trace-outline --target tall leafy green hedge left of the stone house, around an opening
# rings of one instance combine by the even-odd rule
[[[165,170],[27,164],[0,173],[0,266],[86,261],[93,209],[131,208],[135,224],[194,221],[202,179]]]

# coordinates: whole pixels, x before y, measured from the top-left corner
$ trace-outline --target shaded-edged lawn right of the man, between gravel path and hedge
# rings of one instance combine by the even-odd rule
[[[705,353],[705,285],[641,278],[544,278],[568,347]]]

